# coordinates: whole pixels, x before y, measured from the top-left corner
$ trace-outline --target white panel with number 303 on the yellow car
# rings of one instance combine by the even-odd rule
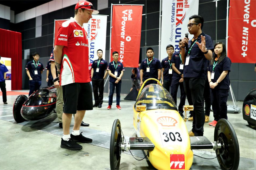
[[[159,132],[163,146],[183,143],[183,136],[180,130],[162,130]]]

